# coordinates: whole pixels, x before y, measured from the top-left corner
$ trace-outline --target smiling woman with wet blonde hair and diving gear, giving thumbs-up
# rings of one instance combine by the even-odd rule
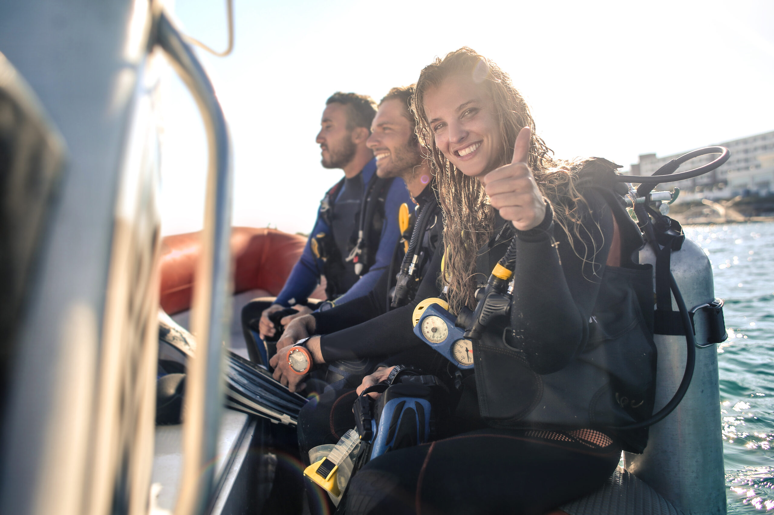
[[[598,489],[622,448],[646,445],[646,430],[622,428],[649,418],[655,394],[639,308],[652,303],[652,272],[631,260],[642,237],[606,200],[609,186],[576,189],[617,166],[553,159],[508,75],[472,49],[422,70],[413,111],[444,210],[446,268],[429,280],[444,283],[457,315],[418,327],[433,348],[447,324],[467,328],[450,342],[462,357],[433,370],[459,400],[447,438],[379,455],[354,476],[347,513],[546,513]],[[416,367],[418,356],[398,359]]]

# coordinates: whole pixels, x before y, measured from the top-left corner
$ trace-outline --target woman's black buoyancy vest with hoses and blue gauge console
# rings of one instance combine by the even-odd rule
[[[720,157],[708,165],[699,169],[690,170],[670,176],[670,182],[680,179],[688,179],[706,173],[722,165],[728,159],[728,150],[721,147],[704,148],[698,151],[690,152],[681,156],[670,163],[667,163],[656,175],[665,175],[675,172],[683,162],[693,159],[699,155],[710,153],[719,153]],[[437,350],[447,356],[448,359],[457,367],[462,363],[455,360],[453,353],[450,353],[451,346],[455,344],[461,346],[461,343],[471,343],[473,349],[474,363],[478,370],[476,377],[478,386],[478,397],[480,401],[479,408],[481,414],[494,422],[494,425],[520,425],[538,424],[538,425],[576,425],[576,427],[598,427],[615,430],[622,435],[625,441],[625,448],[632,452],[642,452],[647,442],[646,428],[656,422],[663,420],[666,415],[680,403],[680,400],[686,394],[687,387],[694,370],[695,352],[697,346],[694,341],[694,326],[697,323],[696,313],[701,312],[700,318],[706,333],[701,336],[699,346],[711,346],[724,339],[724,326],[722,320],[722,303],[714,298],[702,298],[697,305],[691,306],[691,309],[685,305],[677,288],[676,281],[670,277],[669,256],[673,252],[680,251],[680,244],[683,244],[684,237],[679,224],[663,216],[649,207],[651,201],[650,190],[659,180],[651,177],[637,178],[641,182],[638,190],[629,188],[626,191],[623,184],[631,180],[632,176],[618,176],[615,174],[615,166],[604,166],[605,163],[611,165],[602,159],[594,159],[591,169],[584,169],[580,176],[578,187],[593,187],[597,189],[608,205],[611,206],[616,223],[621,230],[622,237],[622,265],[623,268],[608,267],[605,271],[606,276],[619,275],[617,281],[603,281],[603,287],[600,292],[601,297],[608,296],[608,305],[616,306],[615,317],[608,317],[607,320],[597,318],[590,324],[591,334],[589,344],[580,355],[580,360],[572,363],[570,367],[560,371],[560,374],[539,374],[529,373],[529,367],[518,352],[509,345],[507,331],[504,333],[502,341],[493,341],[494,339],[484,339],[481,335],[486,326],[498,315],[507,315],[509,313],[512,296],[512,270],[515,264],[515,240],[506,251],[505,256],[495,266],[485,288],[481,288],[477,293],[478,305],[474,312],[463,312],[457,320],[453,321],[449,315],[443,313],[426,312],[421,316],[420,322],[424,322],[426,329],[436,332],[430,334],[422,329],[419,324],[415,332],[420,338],[425,339],[426,343],[434,346]],[[602,164],[603,166],[599,166]],[[585,184],[583,184],[585,182]],[[650,185],[650,186],[646,186]],[[628,198],[627,198],[628,197]],[[655,384],[655,360],[656,348],[652,339],[653,315],[652,309],[652,264],[647,263],[647,259],[642,264],[632,261],[630,256],[635,254],[638,247],[642,247],[642,238],[639,231],[632,231],[633,223],[630,217],[624,216],[623,206],[627,203],[635,206],[638,213],[640,229],[645,234],[645,239],[653,253],[659,256],[655,259],[656,264],[656,299],[659,301],[656,305],[656,334],[668,333],[671,335],[683,335],[687,340],[687,360],[683,367],[683,380],[680,386],[673,388],[676,392],[671,400],[656,406],[661,407],[656,414],[652,414],[654,408],[654,395],[656,393]],[[650,217],[653,217],[651,222]],[[639,241],[639,243],[637,243]],[[690,242],[688,242],[690,244]],[[706,257],[701,257],[706,261]],[[652,262],[651,262],[652,263]],[[628,265],[628,266],[627,266]],[[666,271],[665,271],[666,270]],[[711,281],[711,271],[705,274]],[[642,277],[640,277],[642,276]],[[609,277],[608,277],[609,279]],[[704,282],[707,278],[704,278]],[[607,282],[607,286],[605,285]],[[685,288],[685,285],[680,285]],[[666,293],[665,293],[666,288]],[[676,305],[679,308],[677,312],[671,311],[671,304],[666,302],[670,298],[670,289],[672,295],[676,298]],[[628,295],[627,292],[635,292],[635,295]],[[650,293],[649,293],[650,292]],[[620,316],[621,311],[627,311],[627,316]],[[432,310],[431,310],[432,311]],[[438,311],[436,309],[436,311]],[[443,310],[442,310],[443,311]],[[440,315],[440,316],[439,316]],[[430,317],[434,316],[435,319]],[[630,320],[642,317],[639,332],[628,331],[623,327]],[[437,320],[440,319],[440,320]],[[462,326],[467,330],[462,336],[456,326]],[[623,324],[623,325],[622,325]],[[605,326],[605,327],[602,327]],[[687,329],[690,328],[690,329]],[[629,328],[632,329],[632,328]],[[646,329],[642,331],[642,329]],[[438,332],[448,333],[447,340],[443,343],[448,345],[439,346],[439,342],[433,342],[433,337],[437,339]],[[423,334],[426,333],[426,334]],[[647,334],[650,333],[650,334]],[[622,337],[623,336],[623,337]],[[457,338],[457,341],[450,341]],[[459,343],[458,343],[459,342]],[[611,345],[613,343],[613,345]],[[443,347],[443,348],[441,348]],[[635,350],[635,352],[632,352]],[[640,351],[645,354],[647,360],[641,363],[635,363],[636,353]],[[659,350],[660,352],[660,350]],[[651,361],[652,363],[646,363]],[[508,362],[508,363],[506,363]],[[600,367],[599,365],[602,364]],[[642,374],[643,367],[651,370],[649,374]],[[524,373],[514,373],[515,369],[524,369]],[[577,370],[574,370],[577,369]],[[596,369],[596,370],[594,370]],[[712,369],[712,367],[710,367]],[[710,375],[715,377],[714,391],[717,394],[717,364],[714,365],[714,373]],[[484,373],[482,373],[484,372]],[[591,391],[590,398],[584,394],[577,399],[567,400],[567,394],[570,389],[567,388],[568,374],[572,377],[575,384],[597,384],[598,389],[584,388],[577,389]],[[556,387],[552,387],[554,375],[559,380]],[[524,380],[527,377],[528,380]],[[483,378],[483,379],[482,379]],[[510,378],[510,379],[509,379]],[[512,384],[518,382],[519,384]],[[515,405],[509,401],[507,391],[529,391],[534,390],[533,400],[531,402],[522,402]],[[557,398],[551,399],[553,392],[556,392]],[[663,394],[662,390],[659,390]],[[576,395],[570,395],[573,397]],[[576,396],[577,397],[577,396]],[[662,395],[663,397],[663,395]],[[505,402],[503,400],[505,399]],[[660,400],[660,399],[659,399]],[[554,406],[552,409],[551,406]],[[571,405],[580,407],[577,412],[571,412],[568,409]],[[662,407],[663,406],[663,407]],[[715,404],[717,406],[717,404]],[[717,411],[717,409],[715,409]],[[712,413],[712,411],[707,411]],[[555,416],[554,416],[555,415]],[[569,415],[569,416],[568,416]],[[715,417],[717,418],[717,416]],[[713,427],[713,431],[717,426]],[[717,432],[717,431],[716,431]],[[719,435],[719,434],[718,434]],[[714,438],[719,438],[714,435]],[[658,472],[653,472],[655,475]],[[722,489],[722,488],[721,488]]]

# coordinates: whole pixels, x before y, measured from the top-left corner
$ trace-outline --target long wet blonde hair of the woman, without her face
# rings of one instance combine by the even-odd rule
[[[448,285],[450,309],[459,312],[463,305],[471,309],[475,306],[476,255],[492,236],[495,210],[481,182],[464,175],[446,159],[430,130],[424,96],[428,90],[439,87],[447,77],[453,76],[471,77],[491,97],[502,137],[502,155],[498,165],[510,162],[519,131],[524,127],[532,129],[529,168],[543,196],[553,206],[555,223],[564,230],[567,230],[568,220],[575,222],[575,226],[580,221],[576,206],[580,195],[571,180],[573,168],[570,163],[553,159],[553,151],[536,135],[535,121],[524,98],[500,67],[467,46],[448,53],[443,60],[436,58],[424,67],[416,81],[412,110],[420,143],[437,166],[437,189],[444,211],[446,247],[443,281]],[[577,232],[577,227],[574,227],[574,232]]]

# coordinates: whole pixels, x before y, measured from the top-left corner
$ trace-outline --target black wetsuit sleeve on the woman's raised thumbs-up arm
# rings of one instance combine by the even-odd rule
[[[579,203],[580,234],[573,235],[571,244],[553,223],[550,207],[538,227],[516,231],[511,327],[515,346],[537,373],[561,370],[588,336],[613,223],[610,208],[598,193],[587,191],[584,197],[588,205]]]

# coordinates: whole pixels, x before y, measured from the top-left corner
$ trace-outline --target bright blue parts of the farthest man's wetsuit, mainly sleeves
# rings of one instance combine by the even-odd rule
[[[372,159],[360,172],[364,189],[365,185],[368,184],[368,181],[371,180],[375,173],[376,161],[375,159]],[[337,192],[336,199],[339,199],[344,195],[345,188],[346,186]],[[385,199],[385,220],[382,227],[382,235],[379,240],[378,250],[376,251],[376,260],[372,267],[368,269],[368,272],[355,282],[344,295],[337,299],[337,304],[367,295],[389,267],[389,263],[392,260],[392,251],[395,249],[395,245],[400,237],[398,210],[402,203],[410,203],[410,196],[406,189],[406,183],[403,182],[402,179],[396,178],[392,181],[392,185],[390,186]],[[303,249],[300,260],[296,263],[296,266],[293,267],[293,271],[290,272],[290,276],[285,283],[283,291],[279,292],[279,295],[277,295],[275,301],[276,304],[288,307],[295,304],[295,302],[309,297],[314,291],[314,288],[317,288],[317,285],[320,283],[320,275],[322,275],[323,271],[323,261],[315,258],[314,254],[312,254],[311,240],[315,234],[327,232],[330,232],[330,227],[328,227],[324,217],[320,215],[320,211],[318,210],[317,221],[314,223],[314,227],[310,233],[310,239],[307,240],[307,245]],[[347,256],[346,248],[340,248],[339,250],[341,251],[342,257]]]

